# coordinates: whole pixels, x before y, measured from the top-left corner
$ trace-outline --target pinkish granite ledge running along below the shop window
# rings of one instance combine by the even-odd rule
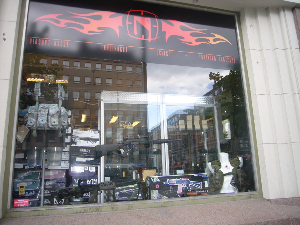
[[[249,199],[233,202],[151,208],[131,211],[4,218],[1,225],[296,225],[300,224],[300,198]]]

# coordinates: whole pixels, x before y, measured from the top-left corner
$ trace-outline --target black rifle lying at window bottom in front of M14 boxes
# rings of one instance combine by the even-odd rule
[[[78,180],[78,187],[65,187],[56,189],[58,202],[61,199],[65,199],[66,205],[69,203],[69,199],[72,196],[76,198],[81,198],[84,193],[91,192],[91,195],[88,198],[88,203],[93,203],[95,195],[102,190],[111,190],[116,189],[116,184],[112,181],[101,182],[100,184],[86,184],[80,185],[83,180]]]

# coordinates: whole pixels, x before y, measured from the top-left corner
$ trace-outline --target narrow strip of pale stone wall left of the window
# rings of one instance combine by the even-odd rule
[[[10,117],[10,100],[12,96],[13,76],[18,73],[15,70],[17,51],[17,39],[19,32],[19,16],[22,1],[1,0],[0,1],[0,184],[4,181],[4,166],[7,155],[10,156],[11,149],[7,149],[8,121]],[[22,36],[22,34],[21,34]],[[5,40],[4,40],[5,38]],[[10,126],[13,126],[10,124]],[[11,137],[9,137],[10,139]],[[2,186],[2,185],[1,185]],[[0,202],[2,203],[3,188],[0,188]],[[3,204],[2,204],[3,205]],[[1,207],[1,206],[0,206]],[[0,217],[1,210],[0,208]]]

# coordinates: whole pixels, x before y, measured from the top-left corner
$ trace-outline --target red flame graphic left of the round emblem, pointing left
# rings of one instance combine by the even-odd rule
[[[67,12],[69,12],[69,11],[67,11]],[[72,13],[72,12],[69,12],[69,13]],[[113,18],[111,17],[112,15],[117,14],[117,13],[110,12],[110,11],[98,11],[98,12],[87,13],[87,14],[78,14],[78,13],[72,13],[72,14],[77,15],[77,16],[69,16],[67,18],[85,19],[85,20],[87,20],[88,23],[81,23],[81,22],[76,22],[71,19],[58,18],[58,17],[63,16],[62,14],[49,14],[49,15],[41,16],[38,19],[35,19],[35,21],[37,21],[37,20],[47,21],[47,22],[54,24],[55,26],[75,29],[75,30],[78,30],[79,32],[82,32],[87,35],[101,34],[104,30],[99,29],[99,28],[109,27],[109,28],[112,28],[118,34],[118,37],[119,37],[119,26],[122,26],[122,16],[116,16]],[[101,19],[99,19],[99,20],[91,19],[91,18],[88,18],[87,16],[101,16]],[[55,22],[55,21],[52,21],[49,19],[55,19],[55,20],[58,20],[58,22]],[[83,28],[80,29],[75,26],[70,26],[70,24],[72,24],[72,23],[81,25]]]

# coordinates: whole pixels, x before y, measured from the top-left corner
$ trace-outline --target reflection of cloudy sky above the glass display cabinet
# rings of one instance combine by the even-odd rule
[[[227,75],[227,70],[147,63],[148,93],[202,96],[214,84],[210,72]]]

